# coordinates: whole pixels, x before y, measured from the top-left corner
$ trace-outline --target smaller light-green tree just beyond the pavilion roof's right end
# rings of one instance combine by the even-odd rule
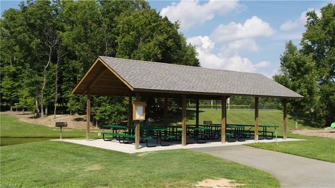
[[[288,42],[285,52],[281,55],[281,75],[274,80],[304,96],[302,100],[290,101],[290,113],[307,113],[313,126],[320,126],[320,116],[315,113],[319,109],[318,75],[315,61],[311,55],[304,55],[297,47]]]

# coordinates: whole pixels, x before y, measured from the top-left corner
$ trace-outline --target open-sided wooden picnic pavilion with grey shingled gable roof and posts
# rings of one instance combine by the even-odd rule
[[[199,125],[199,100],[221,100],[221,142],[225,143],[226,104],[232,95],[255,97],[255,141],[258,141],[258,97],[277,97],[283,101],[283,139],[288,136],[286,100],[303,96],[264,75],[214,70],[168,63],[137,61],[98,56],[73,89],[87,95],[87,140],[91,114],[90,95],[128,96],[128,125],[131,125],[132,97],[164,97],[164,121],[168,123],[168,98],[182,100],[181,143],[186,146],[186,99],[196,100],[195,124]],[[140,144],[140,123],[135,127],[135,148]]]

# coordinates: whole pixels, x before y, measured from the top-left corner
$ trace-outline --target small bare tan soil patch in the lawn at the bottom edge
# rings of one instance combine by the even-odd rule
[[[203,180],[202,182],[198,182],[197,184],[195,184],[194,187],[219,188],[219,187],[237,187],[241,185],[242,184],[234,182],[234,180],[220,178],[220,179]]]

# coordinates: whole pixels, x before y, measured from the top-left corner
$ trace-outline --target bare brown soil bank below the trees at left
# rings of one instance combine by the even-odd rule
[[[20,121],[25,123],[34,123],[38,125],[47,125],[48,127],[54,127],[56,122],[64,121],[68,123],[68,128],[72,129],[86,129],[86,116],[85,115],[72,115],[61,114],[51,116],[45,116],[44,118],[34,118],[33,113],[22,113],[22,111],[1,111],[1,114],[8,114],[19,118]],[[92,128],[94,128],[91,125]]]

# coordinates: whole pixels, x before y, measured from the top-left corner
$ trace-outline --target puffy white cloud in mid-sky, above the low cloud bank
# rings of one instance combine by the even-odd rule
[[[269,37],[275,33],[271,26],[257,16],[246,19],[244,24],[230,22],[219,25],[211,34],[215,42],[241,40],[244,38]]]

